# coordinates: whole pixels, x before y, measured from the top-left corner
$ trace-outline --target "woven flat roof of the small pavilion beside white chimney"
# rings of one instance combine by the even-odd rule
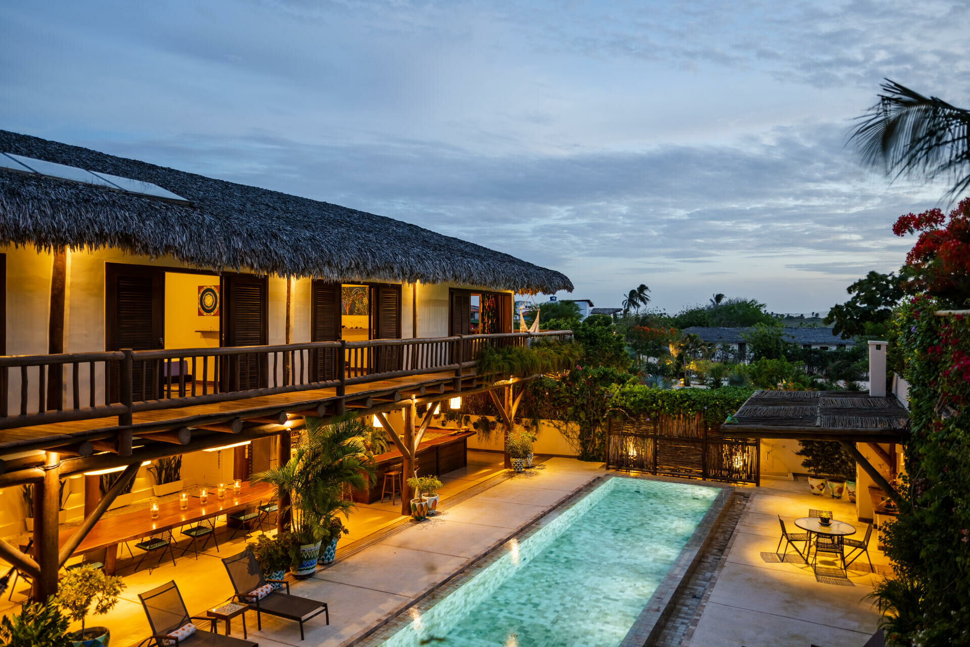
[[[721,431],[732,437],[897,442],[909,436],[909,412],[894,396],[756,391]]]

